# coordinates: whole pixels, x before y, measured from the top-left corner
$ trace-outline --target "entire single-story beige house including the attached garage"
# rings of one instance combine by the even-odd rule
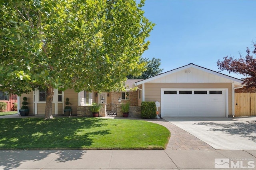
[[[53,115],[62,115],[65,99],[72,103],[72,115],[78,106],[93,102],[106,103],[106,110],[116,110],[119,97],[122,103],[140,106],[142,101],[158,101],[161,117],[232,117],[234,115],[235,89],[242,88],[243,81],[222,73],[200,67],[193,63],[167,71],[144,80],[127,80],[126,91],[76,93],[73,89],[54,90]],[[136,91],[132,91],[137,87]],[[22,98],[28,98],[30,115],[44,115],[46,90],[36,90],[18,97],[18,108]]]

